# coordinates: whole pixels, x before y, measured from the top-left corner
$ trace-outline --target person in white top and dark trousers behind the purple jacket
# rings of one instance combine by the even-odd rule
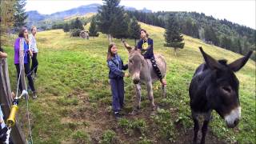
[[[37,47],[37,41],[35,40],[35,34],[37,34],[37,27],[32,26],[31,27],[31,34],[29,36],[30,38],[30,50],[33,53],[32,56],[32,65],[31,65],[31,73],[34,74],[34,78],[37,77],[37,71],[38,71],[38,47]]]

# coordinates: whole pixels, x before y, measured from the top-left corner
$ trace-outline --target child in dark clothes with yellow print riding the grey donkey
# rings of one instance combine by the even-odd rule
[[[152,63],[153,69],[155,73],[158,75],[158,78],[160,79],[160,82],[162,85],[166,85],[166,80],[162,78],[161,71],[158,68],[158,65],[154,58],[154,52],[153,52],[153,39],[149,38],[149,34],[147,34],[146,30],[141,29],[141,40],[137,44],[138,50],[141,51],[141,54],[144,58],[150,59],[150,62]]]

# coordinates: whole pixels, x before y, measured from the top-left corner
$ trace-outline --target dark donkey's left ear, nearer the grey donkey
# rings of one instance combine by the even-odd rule
[[[214,58],[202,50],[202,46],[199,46],[199,50],[202,53],[202,57],[205,59],[206,65],[209,66],[211,70],[221,68],[221,65]]]

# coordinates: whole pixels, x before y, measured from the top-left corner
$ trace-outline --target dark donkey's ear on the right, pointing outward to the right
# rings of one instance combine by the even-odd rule
[[[248,61],[248,59],[250,58],[250,55],[253,53],[252,50],[250,50],[246,56],[239,58],[237,60],[235,60],[234,62],[229,64],[229,67],[231,70],[233,70],[234,72],[240,70],[242,68],[242,66],[246,65],[246,62]]]

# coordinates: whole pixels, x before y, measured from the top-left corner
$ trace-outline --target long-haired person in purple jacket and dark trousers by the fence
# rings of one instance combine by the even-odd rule
[[[30,55],[33,56],[33,53],[31,50],[29,50],[29,38],[28,38],[28,31],[26,30],[25,27],[22,27],[18,34],[18,38],[15,40],[14,43],[14,64],[16,66],[17,70],[17,77],[19,77],[20,74],[20,65],[22,65],[22,62],[19,62],[19,50],[23,50],[24,54],[24,69],[25,69],[25,74],[26,78],[29,81],[29,86],[30,89],[32,90],[32,98],[37,98],[36,91],[34,89],[34,82],[31,77],[30,73]],[[22,82],[19,81],[18,83],[18,88],[22,92]]]

